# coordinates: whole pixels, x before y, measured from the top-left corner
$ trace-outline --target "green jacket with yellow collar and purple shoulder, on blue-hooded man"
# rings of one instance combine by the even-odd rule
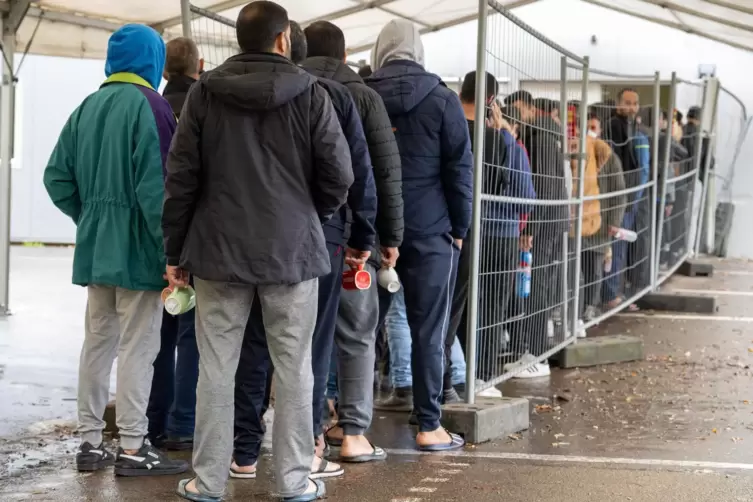
[[[76,224],[73,283],[160,290],[164,162],[170,105],[132,73],[116,73],[73,112],[44,172],[52,202]]]

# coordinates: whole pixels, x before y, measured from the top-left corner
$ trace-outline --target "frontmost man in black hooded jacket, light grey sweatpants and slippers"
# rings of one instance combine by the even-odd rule
[[[233,451],[233,392],[258,295],[275,367],[274,472],[283,500],[323,497],[314,454],[311,340],[318,278],[330,273],[322,223],[353,183],[327,92],[290,57],[287,11],[241,9],[241,53],[194,84],[167,160],[167,276],[194,276],[199,382],[189,500],[220,500]]]

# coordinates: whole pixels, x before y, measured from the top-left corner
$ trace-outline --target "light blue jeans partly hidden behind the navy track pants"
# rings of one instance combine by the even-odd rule
[[[385,321],[387,340],[390,345],[390,380],[393,387],[406,388],[413,385],[410,369],[411,336],[408,317],[405,315],[405,296],[401,289],[392,296],[392,305]],[[460,340],[452,344],[452,385],[465,383],[465,355]]]

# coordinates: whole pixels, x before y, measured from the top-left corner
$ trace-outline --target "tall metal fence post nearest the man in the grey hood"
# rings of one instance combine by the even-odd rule
[[[481,252],[481,186],[484,179],[484,131],[486,124],[486,0],[478,2],[478,38],[476,40],[476,127],[473,131],[473,224],[471,226],[471,277],[468,291],[468,333],[466,335],[465,402],[476,401],[476,361],[478,347],[479,254]]]

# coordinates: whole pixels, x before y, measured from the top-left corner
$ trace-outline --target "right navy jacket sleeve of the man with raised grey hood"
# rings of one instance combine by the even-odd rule
[[[458,96],[447,98],[440,133],[440,176],[452,225],[452,237],[465,239],[471,226],[473,205],[473,156],[468,121]]]

